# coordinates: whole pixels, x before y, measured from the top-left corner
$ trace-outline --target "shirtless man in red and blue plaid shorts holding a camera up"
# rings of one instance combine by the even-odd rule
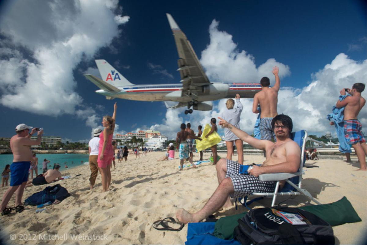
[[[360,168],[358,170],[366,171],[366,156],[367,156],[367,145],[366,139],[364,139],[362,130],[362,124],[358,120],[358,114],[362,107],[366,103],[366,99],[361,96],[365,85],[363,83],[353,84],[352,89],[348,92],[352,96],[345,97],[344,100],[340,101],[338,99],[337,108],[344,108],[344,134],[346,142],[352,145],[356,151]],[[345,95],[345,89],[340,91],[341,95]]]

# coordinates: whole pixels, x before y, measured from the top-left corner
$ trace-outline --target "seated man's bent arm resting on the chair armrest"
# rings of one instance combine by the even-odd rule
[[[295,173],[301,163],[301,149],[294,141],[285,144],[286,161],[275,165],[261,166],[254,165],[254,168],[248,171],[249,175],[259,176],[263,173]]]

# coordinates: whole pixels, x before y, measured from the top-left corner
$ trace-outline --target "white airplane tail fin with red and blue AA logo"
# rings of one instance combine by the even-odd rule
[[[102,80],[106,83],[113,85],[114,87],[122,87],[128,85],[134,85],[130,83],[121,73],[119,73],[112,65],[110,65],[104,59],[96,59],[99,73],[101,74]]]

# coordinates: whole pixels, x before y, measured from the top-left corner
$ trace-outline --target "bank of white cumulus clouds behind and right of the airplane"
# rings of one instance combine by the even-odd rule
[[[274,83],[271,74],[273,66],[279,66],[280,77],[288,76],[288,65],[269,58],[259,67],[255,66],[254,57],[246,51],[238,51],[237,44],[233,43],[232,35],[219,31],[218,22],[213,21],[209,28],[210,44],[201,52],[201,64],[206,70],[211,81],[239,81],[258,82],[263,76],[268,76]],[[326,115],[331,113],[333,105],[342,88],[351,88],[354,83],[366,83],[367,60],[355,61],[344,53],[337,55],[333,61],[326,64],[319,71],[310,74],[311,82],[303,88],[281,87],[278,96],[278,113],[289,115],[293,119],[294,130],[306,129],[309,134],[324,135],[331,131],[335,135],[334,127],[329,125]],[[306,84],[307,81],[304,81]],[[367,97],[367,90],[362,93]],[[212,111],[194,111],[183,117],[185,107],[179,109],[167,109],[165,119],[161,124],[150,127],[159,130],[169,139],[175,139],[180,130],[181,122],[192,124],[192,129],[197,132],[197,126],[210,122],[210,118],[218,117],[226,110],[226,99],[214,102]],[[240,127],[252,134],[257,114],[252,113],[252,99],[241,99],[243,112],[241,114]],[[367,124],[366,105],[362,108],[359,119],[366,132]],[[222,133],[220,127],[219,131]]]

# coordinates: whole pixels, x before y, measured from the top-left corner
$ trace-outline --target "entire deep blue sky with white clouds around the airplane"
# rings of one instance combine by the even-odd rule
[[[83,77],[105,59],[131,83],[179,83],[166,13],[190,40],[211,81],[258,82],[280,66],[278,113],[295,129],[333,132],[325,119],[338,91],[367,81],[366,1],[8,1],[0,5],[0,136],[19,123],[45,135],[88,140],[115,100]],[[363,96],[366,97],[366,90]],[[224,100],[225,101],[225,100]],[[160,130],[174,137],[224,110],[167,110],[162,102],[117,100],[116,132]],[[241,99],[252,132],[252,100]],[[360,114],[366,132],[366,108]]]

